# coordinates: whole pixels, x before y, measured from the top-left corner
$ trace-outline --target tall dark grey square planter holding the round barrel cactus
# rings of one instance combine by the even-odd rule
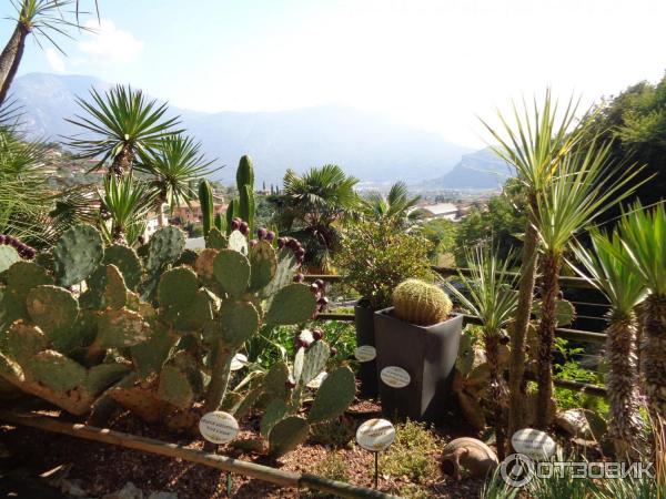
[[[451,381],[463,330],[463,316],[453,314],[432,326],[417,326],[393,316],[393,307],[375,312],[377,376],[384,367],[402,367],[410,375],[404,388],[380,379],[382,410],[389,417],[438,424],[453,406]]]

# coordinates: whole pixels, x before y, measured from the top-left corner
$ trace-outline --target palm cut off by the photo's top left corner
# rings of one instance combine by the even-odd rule
[[[88,28],[79,24],[79,1],[75,2],[75,21],[69,21],[63,16],[64,8],[74,3],[69,0],[10,1],[17,12],[16,17],[10,19],[17,26],[2,53],[0,53],[0,105],[6,101],[9,88],[17,74],[29,34],[36,34],[34,39],[40,47],[41,39],[43,38],[62,52],[58,43],[56,43],[54,35],[62,34],[69,37],[67,30],[72,27],[89,31]]]

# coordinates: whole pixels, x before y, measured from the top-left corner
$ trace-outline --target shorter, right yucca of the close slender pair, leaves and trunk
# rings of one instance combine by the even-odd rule
[[[537,425],[542,428],[548,424],[548,407],[553,396],[553,346],[563,253],[574,234],[636,189],[636,185],[628,183],[640,169],[627,166],[622,173],[616,173],[617,165],[608,161],[610,145],[585,144],[585,149],[564,155],[551,185],[536,200],[534,225],[544,253],[536,415]]]

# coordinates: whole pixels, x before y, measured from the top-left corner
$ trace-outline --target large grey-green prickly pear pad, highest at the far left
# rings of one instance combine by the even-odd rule
[[[100,233],[88,224],[63,232],[53,246],[58,284],[71,286],[84,281],[104,257],[104,243]]]

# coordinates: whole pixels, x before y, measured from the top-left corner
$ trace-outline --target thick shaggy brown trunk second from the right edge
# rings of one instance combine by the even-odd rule
[[[635,454],[640,435],[634,314],[612,318],[606,335],[606,355],[610,364],[607,383],[610,404],[608,435],[614,441],[617,456],[629,457]]]

